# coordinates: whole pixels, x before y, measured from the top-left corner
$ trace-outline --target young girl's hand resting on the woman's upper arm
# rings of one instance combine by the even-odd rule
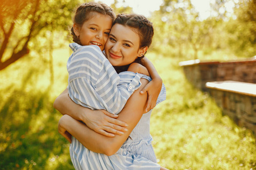
[[[145,113],[147,113],[155,107],[156,100],[158,99],[158,96],[162,89],[162,83],[163,80],[161,78],[152,79],[151,82],[149,82],[140,92],[140,94],[144,94],[145,92],[147,92],[148,94],[147,107]]]

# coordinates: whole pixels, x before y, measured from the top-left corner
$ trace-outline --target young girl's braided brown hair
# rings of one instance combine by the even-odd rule
[[[109,15],[114,22],[115,14],[111,7],[109,7],[105,3],[88,2],[82,3],[82,5],[77,7],[75,16],[73,18],[73,23],[79,25],[79,27],[82,27],[82,24],[84,24],[84,22],[89,19],[88,16],[90,12],[98,12],[99,14]],[[75,35],[73,27],[71,28],[71,35],[73,36],[74,42],[82,45],[79,37]]]

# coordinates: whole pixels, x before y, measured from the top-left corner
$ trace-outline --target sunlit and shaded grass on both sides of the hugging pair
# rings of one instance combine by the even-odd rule
[[[43,58],[25,57],[0,71],[0,169],[73,169],[68,142],[57,133],[61,115],[52,107],[67,87],[69,54],[55,50],[53,86]],[[207,56],[217,54],[221,52]],[[208,94],[187,82],[178,65],[182,59],[152,52],[148,57],[167,88],[167,100],[151,118],[159,164],[169,169],[256,169],[251,131],[222,116]]]

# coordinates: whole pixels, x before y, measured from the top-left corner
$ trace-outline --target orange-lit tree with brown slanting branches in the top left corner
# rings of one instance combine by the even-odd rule
[[[26,56],[47,31],[65,31],[79,0],[2,0],[0,3],[0,70]]]

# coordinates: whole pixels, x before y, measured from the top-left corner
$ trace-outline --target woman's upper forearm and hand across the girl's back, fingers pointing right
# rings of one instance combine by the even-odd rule
[[[114,134],[121,135],[126,131],[127,124],[117,120],[118,115],[104,110],[92,111],[76,104],[68,96],[67,89],[55,99],[53,107],[61,114],[68,114],[75,120],[84,122],[90,129],[108,137],[114,137]]]

